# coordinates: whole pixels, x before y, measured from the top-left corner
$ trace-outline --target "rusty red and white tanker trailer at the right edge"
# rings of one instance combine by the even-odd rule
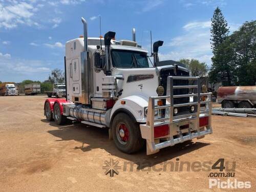
[[[222,108],[255,108],[256,86],[220,87],[217,99]]]

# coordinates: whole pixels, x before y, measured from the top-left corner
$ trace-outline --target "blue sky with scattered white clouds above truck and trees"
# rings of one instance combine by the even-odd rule
[[[88,33],[115,31],[117,39],[136,40],[150,49],[164,40],[161,60],[197,58],[211,65],[210,18],[219,6],[230,31],[256,19],[256,1],[227,0],[0,0],[0,80],[45,80],[52,69],[63,69],[65,42],[82,34],[83,16]]]

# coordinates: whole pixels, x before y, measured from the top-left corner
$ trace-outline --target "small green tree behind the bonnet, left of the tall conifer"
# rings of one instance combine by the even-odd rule
[[[197,59],[180,59],[179,62],[184,63],[191,76],[204,77],[207,74],[207,65]]]

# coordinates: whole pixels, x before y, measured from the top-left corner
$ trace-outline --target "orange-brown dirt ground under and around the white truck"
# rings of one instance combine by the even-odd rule
[[[212,135],[151,156],[145,149],[127,155],[117,150],[105,129],[47,122],[45,99],[0,97],[0,191],[211,191],[208,176],[219,170],[171,170],[166,163],[212,165],[220,158],[228,166],[236,163],[230,180],[250,181],[251,188],[243,191],[256,191],[256,118],[213,116]],[[103,169],[111,159],[119,173],[114,177]],[[239,191],[214,187],[222,190]]]

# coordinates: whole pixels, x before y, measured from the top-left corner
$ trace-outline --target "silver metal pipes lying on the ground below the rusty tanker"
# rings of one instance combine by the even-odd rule
[[[248,108],[213,108],[212,114],[237,117],[256,117],[256,109]]]

